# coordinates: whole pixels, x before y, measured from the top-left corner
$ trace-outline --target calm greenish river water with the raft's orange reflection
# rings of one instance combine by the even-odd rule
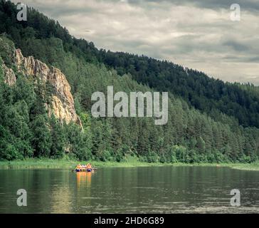
[[[16,204],[25,189],[28,206]],[[230,192],[241,192],[231,207]],[[227,167],[0,170],[0,213],[258,213],[259,172]]]

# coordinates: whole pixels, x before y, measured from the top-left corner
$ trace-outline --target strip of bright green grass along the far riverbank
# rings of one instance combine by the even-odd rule
[[[238,170],[259,171],[259,161],[253,163],[162,163],[162,162],[142,162],[137,157],[127,157],[122,162],[101,162],[101,161],[77,161],[70,159],[26,159],[14,161],[0,161],[0,170],[43,170],[43,169],[68,169],[73,170],[76,165],[90,162],[93,167],[157,167],[157,166],[210,166],[210,167],[230,167]]]

